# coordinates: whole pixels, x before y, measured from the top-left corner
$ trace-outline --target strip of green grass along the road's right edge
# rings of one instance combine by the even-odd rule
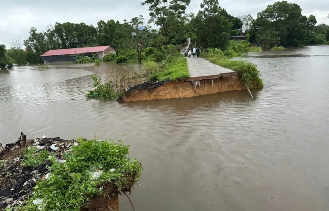
[[[208,54],[202,53],[201,56],[221,67],[237,71],[242,83],[251,89],[262,89],[264,87],[260,72],[257,70],[256,65],[251,62],[230,60],[231,57],[225,56],[219,49],[209,49]]]

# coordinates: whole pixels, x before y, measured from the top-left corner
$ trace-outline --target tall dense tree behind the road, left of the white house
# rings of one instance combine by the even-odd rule
[[[218,0],[204,0],[201,9],[192,20],[197,41],[206,48],[225,50],[233,28],[228,13],[219,6]]]

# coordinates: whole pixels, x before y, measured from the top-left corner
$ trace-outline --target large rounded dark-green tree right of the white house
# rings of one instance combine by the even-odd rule
[[[265,38],[264,34],[274,31],[278,33],[279,45],[285,47],[304,45],[309,30],[308,24],[314,24],[316,19],[314,16],[307,19],[301,11],[299,5],[287,1],[268,5],[264,11],[257,14],[256,24],[254,24],[258,26],[256,35]]]

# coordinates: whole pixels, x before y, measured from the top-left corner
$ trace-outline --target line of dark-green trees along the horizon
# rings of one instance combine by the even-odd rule
[[[169,54],[168,45],[191,38],[202,48],[227,49],[232,35],[239,35],[242,21],[221,8],[218,0],[203,0],[197,14],[187,14],[191,0],[144,0],[150,19],[143,16],[129,21],[100,20],[97,26],[85,23],[55,23],[45,30],[31,27],[24,41],[13,40],[11,48],[0,54],[0,64],[40,63],[40,55],[48,50],[110,45],[120,51],[136,50],[141,61],[142,48],[154,47]],[[158,29],[152,29],[153,23]],[[267,47],[324,44],[329,41],[329,25],[319,24],[314,15],[306,17],[298,4],[279,1],[257,14],[246,37]],[[145,28],[146,26],[146,28]],[[3,47],[5,49],[5,47]],[[0,47],[0,52],[1,52]],[[4,50],[3,50],[4,51]]]

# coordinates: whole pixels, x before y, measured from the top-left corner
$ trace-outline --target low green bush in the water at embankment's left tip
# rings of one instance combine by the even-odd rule
[[[92,79],[94,80],[95,89],[88,90],[87,98],[115,100],[120,96],[120,93],[115,90],[112,81],[102,81],[96,75],[93,75]]]

